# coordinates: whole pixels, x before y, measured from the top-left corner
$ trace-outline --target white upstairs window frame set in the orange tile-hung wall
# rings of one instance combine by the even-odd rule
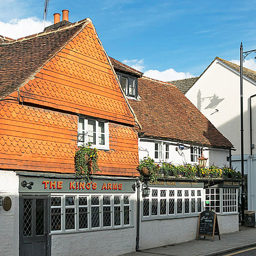
[[[80,120],[83,119],[83,125],[84,125],[84,130],[79,130],[79,123]],[[109,122],[101,120],[101,119],[92,119],[92,118],[86,118],[86,117],[82,117],[82,116],[78,116],[78,129],[77,129],[77,133],[78,133],[78,137],[80,134],[84,133],[84,142],[82,141],[78,141],[77,145],[81,146],[84,143],[88,143],[89,142],[89,138],[88,138],[88,121],[95,121],[95,128],[96,128],[96,143],[92,144],[92,147],[96,147],[99,150],[109,150]],[[99,144],[99,122],[103,122],[104,123],[104,138],[105,138],[105,144],[101,145]]]

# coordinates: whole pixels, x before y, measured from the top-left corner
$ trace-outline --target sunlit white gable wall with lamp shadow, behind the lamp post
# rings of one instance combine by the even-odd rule
[[[249,97],[256,94],[256,86],[244,78],[243,88],[244,154],[250,154]],[[186,93],[186,97],[237,148],[232,155],[240,155],[240,74],[215,60]],[[256,98],[253,98],[252,105],[252,126],[256,129]],[[252,143],[256,144],[255,131]]]

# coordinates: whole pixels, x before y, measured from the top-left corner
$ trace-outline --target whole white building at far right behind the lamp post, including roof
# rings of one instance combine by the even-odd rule
[[[256,73],[243,69],[244,97],[244,174],[247,177],[248,209],[256,209]],[[240,67],[216,57],[207,69],[195,78],[170,81],[227,137],[232,151],[232,166],[241,170],[240,137]]]

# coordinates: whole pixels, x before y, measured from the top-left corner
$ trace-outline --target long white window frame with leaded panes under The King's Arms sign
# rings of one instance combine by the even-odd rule
[[[91,205],[91,198],[92,196],[99,197],[99,227],[92,227],[92,205]],[[114,196],[120,196],[120,224],[115,225],[114,223]],[[61,207],[61,217],[60,217],[60,230],[51,230],[51,233],[70,233],[70,232],[87,232],[92,230],[104,230],[104,229],[116,229],[116,228],[124,228],[130,227],[133,225],[132,219],[132,209],[133,209],[133,202],[132,202],[132,195],[131,194],[120,194],[120,195],[113,195],[113,194],[52,194],[51,198],[54,197],[61,197],[61,206],[51,206],[52,208],[60,208]],[[66,208],[70,208],[70,206],[66,206],[65,200],[66,197],[75,197],[75,229],[68,229],[66,230],[66,216],[65,210]],[[84,206],[79,206],[79,197],[87,197],[87,212],[88,212],[88,228],[79,228],[79,208]],[[110,197],[111,200],[111,226],[103,227],[103,197]],[[129,197],[129,204],[124,204],[124,197]],[[96,205],[95,205],[96,206]],[[117,206],[117,205],[116,205]],[[129,224],[124,225],[124,206],[129,206]]]

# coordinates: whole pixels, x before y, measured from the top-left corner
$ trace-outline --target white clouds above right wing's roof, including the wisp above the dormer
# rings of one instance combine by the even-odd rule
[[[164,71],[145,70],[143,59],[124,59],[122,62],[129,67],[132,67],[138,71],[144,72],[144,76],[161,80],[161,81],[172,81],[172,80],[179,80],[179,79],[194,77],[194,75],[190,74],[189,72],[186,72],[186,73],[177,72],[174,69],[167,69]]]

